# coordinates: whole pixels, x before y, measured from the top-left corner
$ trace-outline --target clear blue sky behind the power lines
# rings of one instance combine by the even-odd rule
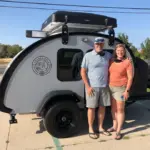
[[[118,6],[118,7],[150,7],[149,0],[19,0],[32,2],[63,3],[78,5],[95,6]],[[94,9],[94,8],[76,8],[76,7],[58,7],[44,5],[12,4],[0,2],[0,5],[8,6],[27,6],[27,7],[45,7],[67,10],[98,10],[98,11],[136,11],[136,10],[118,10],[118,9]],[[140,11],[140,10],[138,10]],[[55,11],[53,10],[28,10],[28,9],[10,9],[0,7],[0,43],[19,44],[23,48],[29,46],[39,39],[27,38],[26,30],[40,30],[42,23]],[[145,12],[148,12],[145,11]],[[150,10],[149,10],[150,12]],[[96,12],[95,12],[96,13]],[[129,36],[129,41],[138,49],[146,38],[150,37],[150,14],[116,14],[100,13],[117,19],[118,27],[115,29],[118,33],[125,33]]]

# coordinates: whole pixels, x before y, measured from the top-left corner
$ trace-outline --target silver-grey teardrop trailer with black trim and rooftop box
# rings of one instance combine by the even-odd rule
[[[19,52],[7,66],[0,83],[0,111],[17,123],[16,114],[36,113],[42,117],[48,133],[69,137],[80,126],[80,110],[85,108],[84,84],[80,64],[93,48],[96,37],[105,38],[104,51],[110,53],[117,43],[117,20],[103,15],[57,11],[42,24],[40,31],[27,30],[26,36],[41,38]],[[102,34],[100,32],[105,32]],[[126,45],[132,60],[134,81],[126,105],[148,100],[148,65],[136,58]],[[77,57],[79,56],[79,57]]]

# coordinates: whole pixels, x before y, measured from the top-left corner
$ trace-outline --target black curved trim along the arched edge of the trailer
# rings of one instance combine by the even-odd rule
[[[74,36],[74,35],[87,35],[87,36],[100,36],[100,37],[104,37],[104,38],[108,38],[108,35],[105,34],[100,34],[100,33],[85,33],[85,32],[75,32],[75,33],[69,33],[69,36]],[[9,83],[9,80],[13,74],[13,72],[15,71],[15,69],[17,68],[17,66],[19,65],[19,63],[28,55],[30,54],[33,50],[35,50],[35,48],[37,48],[38,46],[40,46],[41,44],[44,44],[50,40],[56,39],[61,37],[62,34],[57,34],[57,35],[53,35],[50,37],[46,37],[43,38],[33,44],[31,44],[30,46],[28,46],[26,49],[24,49],[21,53],[19,53],[19,55],[13,60],[13,62],[11,63],[11,65],[7,68],[7,70],[5,71],[3,78],[1,80],[0,83],[0,111],[5,112],[5,113],[11,113],[12,109],[8,108],[4,105],[4,97],[5,97],[5,91],[7,89],[7,85]],[[121,40],[119,40],[118,38],[115,38],[115,41],[123,43]],[[135,61],[135,57],[131,51],[131,49],[126,45],[126,48],[128,49],[128,52],[130,53],[133,61]]]

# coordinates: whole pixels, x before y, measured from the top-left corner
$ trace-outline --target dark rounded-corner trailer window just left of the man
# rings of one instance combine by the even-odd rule
[[[60,81],[81,80],[80,69],[83,59],[80,49],[62,48],[57,52],[57,78]]]

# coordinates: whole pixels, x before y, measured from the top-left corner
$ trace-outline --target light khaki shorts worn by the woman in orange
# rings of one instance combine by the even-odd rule
[[[116,101],[125,101],[123,93],[126,90],[125,86],[109,86],[110,94]]]

